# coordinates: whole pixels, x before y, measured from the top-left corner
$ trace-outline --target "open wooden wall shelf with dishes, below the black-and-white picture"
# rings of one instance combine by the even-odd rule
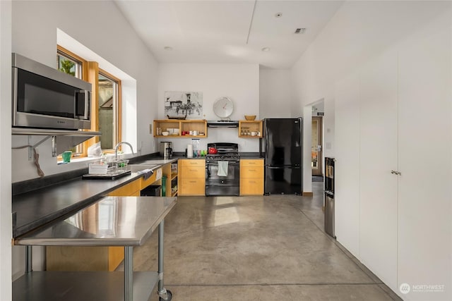
[[[157,128],[160,128],[162,132],[168,132],[169,128],[179,129],[179,133],[172,135],[171,133],[167,136],[157,135]],[[182,135],[183,132],[198,131],[198,135]],[[153,128],[154,137],[195,137],[195,138],[205,138],[207,137],[207,121],[202,120],[177,120],[177,119],[163,119],[155,120]],[[201,135],[202,134],[202,135]]]

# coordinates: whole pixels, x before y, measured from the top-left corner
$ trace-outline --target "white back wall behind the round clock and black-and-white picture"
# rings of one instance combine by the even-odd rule
[[[259,67],[257,64],[162,63],[158,78],[158,117],[166,118],[165,91],[203,92],[203,118],[218,120],[213,103],[219,97],[234,102],[232,120],[244,120],[244,115],[259,115]],[[184,152],[191,143],[187,138],[161,139],[172,141],[174,152]],[[208,142],[235,142],[239,152],[258,152],[258,140],[238,137],[237,128],[208,128],[208,137],[201,139],[201,149]]]

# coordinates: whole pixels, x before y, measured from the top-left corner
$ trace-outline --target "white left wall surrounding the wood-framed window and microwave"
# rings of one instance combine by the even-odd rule
[[[83,20],[73,13],[83,11]],[[112,22],[114,20],[114,22]],[[14,1],[12,51],[54,67],[57,51],[57,29],[112,63],[133,80],[124,81],[123,97],[135,98],[136,104],[124,109],[136,111],[137,118],[126,118],[123,131],[135,149],[142,154],[155,152],[155,140],[148,124],[157,117],[157,61],[150,54],[112,1]],[[102,67],[102,66],[101,66]],[[136,84],[134,83],[136,81]],[[136,85],[136,92],[133,91]],[[132,87],[131,87],[132,86]],[[136,130],[131,130],[131,128]],[[27,144],[26,137],[13,137],[15,146]],[[57,166],[51,156],[50,142],[38,147],[40,166],[46,176],[84,168],[85,162]],[[37,178],[27,150],[13,151],[13,182]]]

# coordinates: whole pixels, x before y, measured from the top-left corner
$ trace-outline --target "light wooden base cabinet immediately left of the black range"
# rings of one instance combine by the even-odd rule
[[[206,160],[179,160],[178,195],[206,195]]]

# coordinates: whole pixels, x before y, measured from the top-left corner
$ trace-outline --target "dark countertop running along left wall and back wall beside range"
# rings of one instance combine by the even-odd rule
[[[263,159],[258,154],[241,153],[242,159]],[[205,157],[186,158],[183,153],[174,154],[172,160],[177,159],[206,159]],[[158,160],[160,156],[146,156],[137,161],[131,160],[133,164],[143,161]],[[46,223],[64,218],[74,211],[83,209],[101,197],[105,197],[109,192],[131,183],[133,180],[141,178],[143,175],[131,173],[129,176],[118,178],[117,180],[82,180],[83,173],[88,173],[88,168],[83,171],[73,173],[72,179],[65,175],[49,176],[52,181],[58,184],[47,185],[44,188],[37,188],[25,193],[20,192],[25,186],[37,187],[37,181],[49,182],[49,179],[38,179],[24,181],[13,184],[13,238],[34,230]],[[47,178],[47,177],[46,177]],[[16,191],[16,193],[15,193]]]

